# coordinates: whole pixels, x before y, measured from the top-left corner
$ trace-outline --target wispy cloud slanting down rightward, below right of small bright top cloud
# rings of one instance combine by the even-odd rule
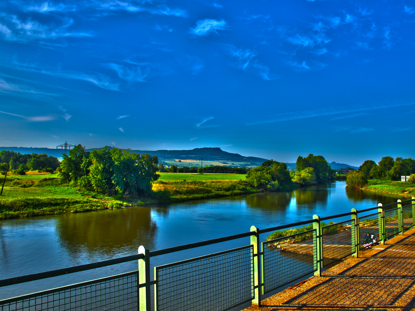
[[[254,59],[259,52],[251,49],[237,49],[232,44],[225,45],[228,53],[237,59],[237,67],[244,71],[251,71],[256,75],[260,76],[264,80],[275,80],[281,78],[279,75],[270,74],[268,66],[261,64],[257,59]]]

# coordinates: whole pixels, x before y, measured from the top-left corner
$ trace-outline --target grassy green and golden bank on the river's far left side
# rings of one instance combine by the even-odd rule
[[[0,176],[1,178],[1,176]],[[228,178],[228,179],[225,179]],[[162,173],[150,197],[125,194],[107,196],[62,184],[56,174],[11,175],[0,197],[0,219],[98,211],[159,203],[173,203],[240,194],[259,193],[240,174]],[[279,191],[298,189],[298,184]]]

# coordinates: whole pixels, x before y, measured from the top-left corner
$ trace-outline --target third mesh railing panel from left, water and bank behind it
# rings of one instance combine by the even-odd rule
[[[264,293],[317,271],[317,230],[261,244]]]

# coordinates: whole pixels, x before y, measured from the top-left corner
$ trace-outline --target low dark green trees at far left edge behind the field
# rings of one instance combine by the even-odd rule
[[[15,174],[26,171],[46,171],[53,173],[59,167],[59,160],[47,154],[21,154],[12,150],[0,151],[0,171],[6,171],[10,162],[10,170]]]

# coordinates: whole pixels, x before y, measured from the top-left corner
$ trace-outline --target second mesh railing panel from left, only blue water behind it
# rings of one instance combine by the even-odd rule
[[[254,299],[252,245],[155,267],[156,310],[226,310]]]

